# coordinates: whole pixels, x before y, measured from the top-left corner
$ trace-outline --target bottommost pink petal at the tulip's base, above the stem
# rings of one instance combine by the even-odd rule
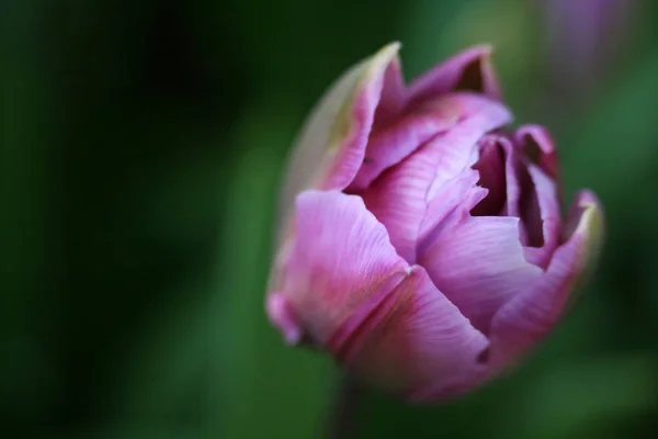
[[[392,393],[413,401],[452,396],[481,368],[487,338],[434,286],[426,270],[412,267],[390,293],[385,311],[368,322],[341,362]]]

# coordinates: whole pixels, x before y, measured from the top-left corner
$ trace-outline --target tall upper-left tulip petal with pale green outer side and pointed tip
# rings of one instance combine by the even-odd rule
[[[293,148],[283,190],[284,215],[304,189],[350,184],[363,162],[381,100],[383,113],[395,113],[402,104],[401,78],[396,78],[399,47],[399,43],[389,44],[354,66],[319,101]]]

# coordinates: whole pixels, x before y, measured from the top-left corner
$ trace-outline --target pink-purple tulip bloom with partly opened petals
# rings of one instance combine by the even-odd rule
[[[399,44],[348,71],[294,150],[266,312],[409,401],[454,397],[556,324],[597,254],[581,191],[563,221],[540,126],[507,130],[487,46],[405,86]]]

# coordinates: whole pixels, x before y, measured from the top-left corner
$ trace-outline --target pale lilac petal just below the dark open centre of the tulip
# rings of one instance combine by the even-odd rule
[[[484,334],[491,317],[542,274],[523,257],[519,218],[470,216],[472,200],[453,211],[419,247],[418,262],[438,289]]]

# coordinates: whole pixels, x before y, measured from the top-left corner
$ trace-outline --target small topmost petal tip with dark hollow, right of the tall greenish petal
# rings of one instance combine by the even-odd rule
[[[491,67],[491,47],[474,46],[439,64],[416,79],[408,101],[420,102],[455,90],[475,91],[500,100],[500,88]]]

